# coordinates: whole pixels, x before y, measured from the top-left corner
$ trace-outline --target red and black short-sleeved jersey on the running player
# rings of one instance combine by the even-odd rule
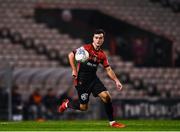
[[[99,64],[102,64],[105,68],[109,66],[107,57],[102,49],[95,50],[92,44],[86,44],[82,46],[89,53],[89,59],[85,63],[78,62],[78,77],[91,78],[96,75],[96,71]],[[76,51],[74,51],[75,53]]]

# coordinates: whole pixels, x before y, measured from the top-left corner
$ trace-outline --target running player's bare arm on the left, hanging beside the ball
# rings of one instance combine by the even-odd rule
[[[70,66],[72,68],[72,76],[77,78],[77,69],[76,69],[76,65],[75,65],[75,55],[74,55],[74,53],[70,52],[68,54],[68,58],[69,58]]]

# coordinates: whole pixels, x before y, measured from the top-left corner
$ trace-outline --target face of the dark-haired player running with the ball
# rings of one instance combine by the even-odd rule
[[[95,46],[100,47],[104,42],[104,35],[103,33],[94,34],[93,43]]]

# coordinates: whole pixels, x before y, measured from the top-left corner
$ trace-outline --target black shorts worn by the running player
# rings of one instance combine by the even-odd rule
[[[98,77],[88,81],[78,80],[76,90],[78,92],[80,104],[87,104],[91,93],[94,97],[97,97],[99,93],[107,91]]]

